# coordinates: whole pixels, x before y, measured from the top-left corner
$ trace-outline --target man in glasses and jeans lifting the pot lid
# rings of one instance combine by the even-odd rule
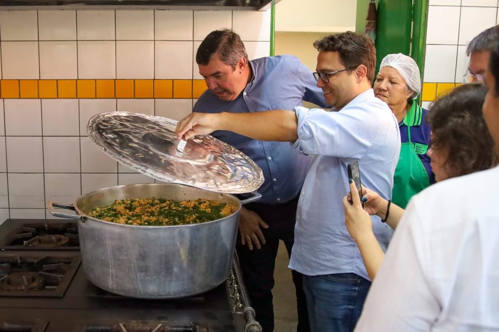
[[[302,273],[312,331],[352,331],[370,286],[355,241],[345,226],[342,198],[349,191],[347,165],[358,161],[362,182],[391,198],[400,152],[398,123],[371,89],[376,63],[367,36],[345,32],[314,43],[314,76],[331,112],[295,107],[250,114],[193,113],[179,122],[189,139],[229,130],[262,141],[293,142],[311,155],[298,202],[289,267]],[[386,249],[393,230],[373,217]]]

